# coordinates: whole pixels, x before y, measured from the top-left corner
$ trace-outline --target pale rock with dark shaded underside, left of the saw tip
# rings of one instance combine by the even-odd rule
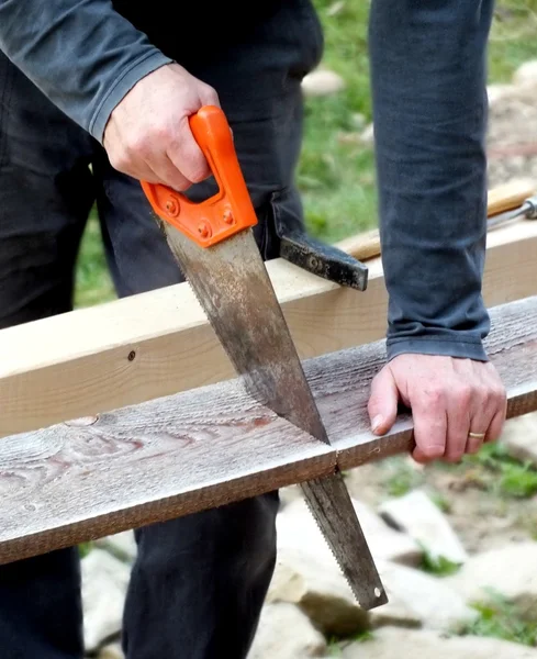
[[[334,559],[286,547],[278,552],[267,602],[297,604],[326,635],[347,635],[368,625]]]

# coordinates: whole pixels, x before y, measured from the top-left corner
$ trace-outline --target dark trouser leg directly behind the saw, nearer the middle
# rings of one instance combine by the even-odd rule
[[[300,81],[320,56],[305,1],[283,3],[251,41],[226,44],[190,70],[213,85],[257,211],[257,243],[278,256],[275,223],[302,223],[294,170],[301,146]],[[116,286],[125,294],[180,281],[137,181],[99,156],[100,201]],[[189,191],[201,200],[209,180]],[[136,530],[138,554],[124,614],[127,659],[244,659],[276,561],[278,492]]]

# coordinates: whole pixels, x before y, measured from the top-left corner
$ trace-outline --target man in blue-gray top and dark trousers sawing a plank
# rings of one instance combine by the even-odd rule
[[[172,15],[172,12],[178,12]],[[482,339],[485,47],[492,0],[373,0],[371,81],[390,294],[374,432],[412,406],[419,461],[495,439],[505,393]],[[180,280],[138,179],[212,191],[188,125],[220,104],[258,212],[302,217],[293,183],[300,82],[320,62],[310,0],[0,0],[0,314],[3,326],[71,308],[97,200],[118,293]],[[88,165],[92,165],[92,171]],[[275,565],[277,493],[136,532],[128,659],[244,659]],[[0,570],[4,659],[82,656],[76,549]]]

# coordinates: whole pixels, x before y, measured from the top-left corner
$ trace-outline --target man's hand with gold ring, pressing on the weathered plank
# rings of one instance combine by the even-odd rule
[[[368,412],[374,434],[389,432],[398,403],[412,410],[417,462],[458,462],[499,438],[506,393],[491,362],[405,354],[374,377]]]

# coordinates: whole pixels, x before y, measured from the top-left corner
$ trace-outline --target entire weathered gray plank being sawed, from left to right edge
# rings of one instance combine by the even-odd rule
[[[537,410],[537,297],[492,310],[488,349],[510,416]],[[409,450],[401,416],[369,431],[384,342],[305,361],[334,447],[254,403],[237,380],[0,440],[0,562],[237,501]]]

